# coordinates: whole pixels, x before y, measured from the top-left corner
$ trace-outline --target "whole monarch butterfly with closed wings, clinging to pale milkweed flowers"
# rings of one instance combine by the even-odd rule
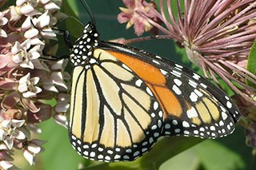
[[[92,22],[71,52],[70,143],[87,159],[135,160],[160,136],[234,131],[239,113],[230,97],[174,61],[102,42]]]

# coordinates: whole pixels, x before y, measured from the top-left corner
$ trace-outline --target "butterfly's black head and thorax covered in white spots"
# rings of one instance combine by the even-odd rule
[[[91,22],[83,30],[82,36],[73,45],[70,61],[74,66],[91,65],[96,61],[93,57],[95,47],[98,46],[98,32]]]

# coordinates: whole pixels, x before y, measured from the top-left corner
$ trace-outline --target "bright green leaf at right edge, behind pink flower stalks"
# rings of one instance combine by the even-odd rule
[[[256,75],[256,41],[254,41],[254,45],[250,49],[250,54],[247,62],[247,70],[250,71],[250,73]],[[256,88],[256,85],[248,79],[246,79],[246,84]]]

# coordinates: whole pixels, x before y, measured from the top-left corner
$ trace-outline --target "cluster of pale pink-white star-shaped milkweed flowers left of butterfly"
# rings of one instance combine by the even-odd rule
[[[54,117],[66,125],[67,61],[44,60],[58,49],[50,43],[57,40],[52,27],[66,17],[61,5],[62,0],[17,0],[0,12],[0,169],[15,167],[14,148],[34,164],[44,144],[33,139],[33,133],[41,132],[39,122]],[[46,102],[52,99],[55,107]]]

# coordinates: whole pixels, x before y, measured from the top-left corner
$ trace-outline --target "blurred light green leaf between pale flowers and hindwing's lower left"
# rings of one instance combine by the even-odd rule
[[[42,122],[40,127],[40,139],[47,141],[43,145],[46,150],[40,153],[41,159],[38,160],[42,162],[42,169],[77,169],[79,162],[85,159],[71,147],[67,129],[57,125],[53,119]]]

